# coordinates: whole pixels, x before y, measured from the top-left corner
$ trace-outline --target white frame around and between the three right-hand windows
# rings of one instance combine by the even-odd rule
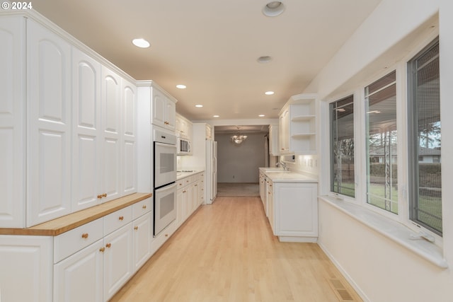
[[[362,81],[357,81],[357,84],[348,84],[349,89],[344,89],[339,87],[336,91],[341,91],[341,93],[332,93],[331,95],[326,96],[323,99],[321,105],[321,120],[326,119],[328,121],[328,127],[321,127],[321,132],[325,134],[323,141],[321,141],[321,148],[324,147],[326,151],[320,153],[321,158],[324,161],[328,161],[326,165],[321,165],[323,170],[328,171],[327,175],[322,175],[320,180],[323,182],[321,185],[321,194],[326,194],[328,197],[333,197],[336,199],[342,199],[346,202],[357,204],[360,207],[369,209],[378,214],[386,216],[394,221],[398,221],[407,228],[411,229],[414,233],[426,233],[435,238],[435,245],[443,247],[443,238],[437,233],[431,231],[429,228],[420,226],[415,221],[412,221],[410,218],[410,209],[409,209],[409,194],[408,194],[408,184],[410,181],[409,176],[409,156],[408,156],[408,62],[411,61],[418,53],[425,50],[429,45],[435,42],[439,33],[433,31],[432,33],[421,37],[418,41],[413,43],[413,47],[410,52],[406,52],[403,56],[398,58],[398,62],[384,66],[380,70],[375,70],[371,76],[363,77]],[[396,127],[398,129],[398,147],[397,147],[397,156],[398,156],[398,214],[380,209],[372,204],[367,203],[367,160],[366,160],[366,144],[365,139],[365,87],[369,84],[374,83],[375,81],[390,74],[392,71],[396,71],[396,112],[398,119],[396,122]],[[372,72],[372,71],[370,71]],[[342,89],[343,88],[343,89]],[[330,104],[336,102],[337,100],[342,100],[348,96],[353,95],[354,98],[354,140],[355,140],[355,197],[348,197],[343,194],[338,194],[331,191],[331,120],[330,120]],[[442,131],[442,130],[441,130]],[[445,214],[442,219],[445,219]]]

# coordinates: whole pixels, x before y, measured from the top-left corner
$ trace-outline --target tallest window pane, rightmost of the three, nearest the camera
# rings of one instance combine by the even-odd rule
[[[408,62],[410,219],[442,234],[439,42]],[[423,158],[422,161],[419,158]]]

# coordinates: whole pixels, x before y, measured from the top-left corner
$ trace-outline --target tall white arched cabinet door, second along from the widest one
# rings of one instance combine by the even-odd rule
[[[92,207],[101,194],[101,65],[73,48],[72,211]]]

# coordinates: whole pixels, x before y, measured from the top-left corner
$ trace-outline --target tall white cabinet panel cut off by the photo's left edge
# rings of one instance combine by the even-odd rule
[[[0,19],[0,227],[25,227],[25,20]]]

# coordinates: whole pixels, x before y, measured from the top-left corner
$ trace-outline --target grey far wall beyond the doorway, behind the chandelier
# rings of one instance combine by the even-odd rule
[[[245,134],[245,133],[241,133]],[[263,167],[264,133],[246,133],[246,141],[235,146],[231,134],[216,134],[217,182],[256,182],[258,168]]]

